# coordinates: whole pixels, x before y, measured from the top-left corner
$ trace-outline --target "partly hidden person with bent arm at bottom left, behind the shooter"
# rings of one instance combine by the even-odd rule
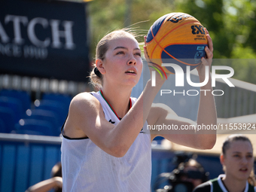
[[[51,169],[52,178],[41,181],[29,187],[25,192],[47,192],[54,189],[55,192],[62,191],[62,166],[61,163],[56,163]]]

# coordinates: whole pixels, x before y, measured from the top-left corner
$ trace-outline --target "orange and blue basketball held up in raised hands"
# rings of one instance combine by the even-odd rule
[[[148,30],[146,47],[154,66],[174,74],[172,67],[162,63],[174,63],[186,72],[195,69],[206,56],[208,45],[206,31],[200,21],[184,13],[171,13],[160,17]]]

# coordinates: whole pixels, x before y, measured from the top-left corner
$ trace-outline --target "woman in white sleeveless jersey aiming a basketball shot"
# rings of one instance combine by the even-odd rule
[[[207,35],[207,58],[197,68],[200,81],[205,66],[212,64],[212,40]],[[148,59],[146,47],[145,56]],[[139,99],[130,98],[142,73],[142,53],[138,41],[129,32],[118,30],[105,35],[96,48],[95,69],[91,81],[100,87],[95,93],[80,93],[72,99],[69,116],[62,127],[63,191],[150,191],[151,141],[163,136],[191,148],[212,148],[215,134],[161,135],[147,130],[150,125],[194,124],[178,117],[165,105],[152,105],[165,80],[151,80]],[[212,90],[211,81],[204,90]],[[215,124],[212,94],[201,96],[197,123]],[[193,131],[194,132],[194,131]]]

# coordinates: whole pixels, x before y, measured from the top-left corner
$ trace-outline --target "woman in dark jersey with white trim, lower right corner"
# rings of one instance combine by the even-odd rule
[[[194,192],[255,192],[251,141],[241,135],[227,137],[221,154],[224,175],[200,184]]]

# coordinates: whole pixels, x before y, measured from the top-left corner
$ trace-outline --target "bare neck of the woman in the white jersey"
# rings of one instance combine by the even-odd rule
[[[129,111],[132,91],[114,87],[102,87],[102,93],[112,109],[116,112],[117,117],[123,118],[127,111]]]

